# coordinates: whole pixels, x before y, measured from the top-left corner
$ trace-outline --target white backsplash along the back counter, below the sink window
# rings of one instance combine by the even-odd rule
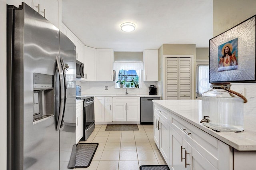
[[[76,81],[76,84],[82,87],[81,95],[125,94],[125,88],[115,88],[115,81]],[[156,85],[158,94],[160,94],[160,81],[142,81],[142,87],[140,89],[127,88],[127,92],[129,94],[148,95],[148,86],[150,85]],[[108,86],[108,90],[105,90],[105,86]]]

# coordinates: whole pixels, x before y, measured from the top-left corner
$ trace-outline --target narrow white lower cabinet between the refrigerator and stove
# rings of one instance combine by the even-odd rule
[[[76,143],[83,136],[83,102],[76,103]]]

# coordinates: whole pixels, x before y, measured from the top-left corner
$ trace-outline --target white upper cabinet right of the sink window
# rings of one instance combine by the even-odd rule
[[[143,81],[158,81],[158,49],[144,50],[143,65]]]

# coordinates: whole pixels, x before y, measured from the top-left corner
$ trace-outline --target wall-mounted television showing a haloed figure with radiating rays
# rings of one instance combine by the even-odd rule
[[[209,82],[256,82],[256,15],[209,40]]]

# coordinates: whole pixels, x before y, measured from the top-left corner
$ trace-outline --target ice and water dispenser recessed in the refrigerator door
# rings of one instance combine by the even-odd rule
[[[34,73],[34,121],[54,116],[54,76]]]

